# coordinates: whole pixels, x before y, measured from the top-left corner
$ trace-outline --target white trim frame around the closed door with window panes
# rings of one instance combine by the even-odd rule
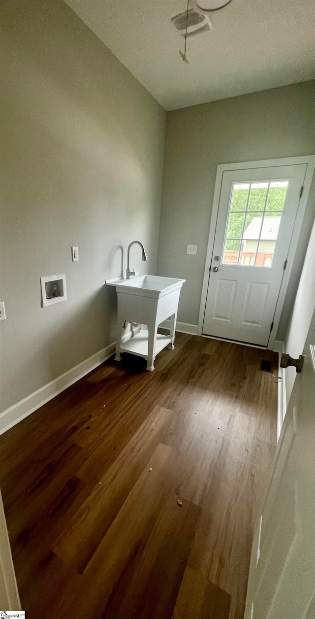
[[[284,157],[280,159],[264,159],[262,161],[248,161],[248,162],[238,162],[238,163],[221,163],[217,166],[217,174],[216,174],[216,184],[214,185],[214,195],[212,202],[212,211],[211,211],[211,222],[209,229],[209,239],[208,239],[208,248],[206,254],[206,264],[204,266],[204,277],[203,277],[203,288],[201,293],[201,301],[200,301],[200,312],[198,318],[198,335],[203,335],[203,321],[204,321],[204,313],[206,311],[206,300],[207,300],[207,292],[209,285],[209,276],[210,276],[210,267],[212,262],[212,253],[214,246],[214,235],[216,233],[216,225],[217,225],[217,215],[219,211],[219,200],[221,194],[221,186],[223,173],[231,170],[246,170],[250,168],[270,168],[277,167],[282,165],[298,165],[300,163],[305,163],[307,165],[305,178],[303,181],[303,195],[300,198],[298,204],[298,211],[296,214],[296,219],[293,227],[292,237],[290,240],[290,246],[288,250],[288,258],[287,258],[287,267],[284,271],[284,277],[282,277],[282,282],[279,290],[279,297],[277,300],[277,305],[275,306],[275,314],[274,314],[274,328],[271,331],[269,336],[269,341],[267,344],[267,348],[273,350],[274,342],[277,335],[280,316],[282,313],[282,308],[284,306],[285,294],[287,293],[288,282],[290,280],[290,274],[292,272],[293,262],[295,259],[296,248],[298,246],[298,239],[301,232],[301,227],[303,224],[303,219],[305,215],[306,204],[308,201],[309,189],[311,188],[311,182],[315,170],[315,155],[304,155],[300,157]]]

